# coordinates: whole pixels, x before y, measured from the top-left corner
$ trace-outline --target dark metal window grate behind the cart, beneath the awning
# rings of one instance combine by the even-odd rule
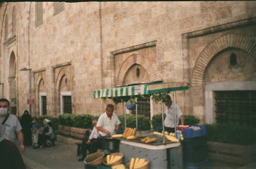
[[[138,115],[144,115],[150,118],[150,99],[138,98]],[[132,114],[136,114],[136,109],[132,110]]]

